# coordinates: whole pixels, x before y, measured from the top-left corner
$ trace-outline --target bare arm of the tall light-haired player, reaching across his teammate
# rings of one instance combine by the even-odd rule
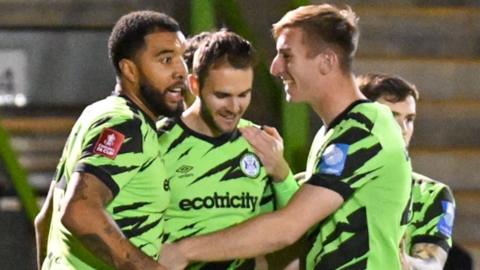
[[[184,239],[164,250],[160,256],[166,266],[178,261],[223,261],[252,258],[267,254],[297,241],[343,203],[331,190],[311,185],[302,186],[288,205],[279,211],[258,216],[237,226],[208,235]],[[318,207],[322,205],[322,207]],[[175,254],[174,254],[175,253]],[[175,267],[173,269],[176,269]]]

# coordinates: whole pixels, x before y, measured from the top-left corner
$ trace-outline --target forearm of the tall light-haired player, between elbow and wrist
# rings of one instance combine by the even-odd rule
[[[178,248],[189,261],[223,261],[270,253],[294,243],[301,236],[290,228],[281,211],[217,233],[182,240]]]

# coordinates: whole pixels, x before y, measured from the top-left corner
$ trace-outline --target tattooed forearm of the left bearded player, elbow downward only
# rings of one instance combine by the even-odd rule
[[[116,269],[163,269],[135,247],[103,209],[72,206],[69,210],[73,213],[64,215],[62,223],[98,258]]]

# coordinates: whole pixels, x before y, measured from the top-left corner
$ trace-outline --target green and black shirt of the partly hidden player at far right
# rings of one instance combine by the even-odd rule
[[[408,254],[418,243],[431,243],[447,253],[452,246],[455,200],[447,185],[413,173],[412,218],[407,227]]]

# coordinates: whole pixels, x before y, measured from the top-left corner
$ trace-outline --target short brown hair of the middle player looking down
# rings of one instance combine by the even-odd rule
[[[236,69],[255,65],[255,49],[241,36],[221,30],[212,33],[195,52],[193,73],[198,76],[200,89],[205,83],[211,67],[228,63]]]

